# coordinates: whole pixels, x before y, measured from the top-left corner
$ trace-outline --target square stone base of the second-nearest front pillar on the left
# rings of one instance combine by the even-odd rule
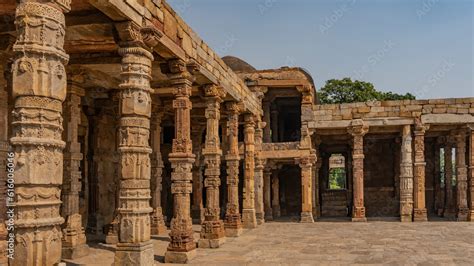
[[[118,243],[115,250],[114,265],[153,265],[155,252],[151,241],[131,244]]]

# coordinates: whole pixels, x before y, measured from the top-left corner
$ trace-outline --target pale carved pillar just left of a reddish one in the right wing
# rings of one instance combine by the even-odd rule
[[[400,221],[413,221],[413,149],[411,126],[403,126],[400,149]]]

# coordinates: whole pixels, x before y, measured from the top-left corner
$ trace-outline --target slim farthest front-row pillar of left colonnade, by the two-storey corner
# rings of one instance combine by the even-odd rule
[[[265,222],[265,210],[263,206],[263,169],[265,168],[266,160],[261,158],[262,153],[262,138],[263,128],[266,123],[257,121],[257,128],[255,129],[255,216],[257,224]]]

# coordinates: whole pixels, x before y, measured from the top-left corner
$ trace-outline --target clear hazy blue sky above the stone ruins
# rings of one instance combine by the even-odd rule
[[[417,98],[474,97],[474,0],[168,0],[219,55],[351,77]]]

